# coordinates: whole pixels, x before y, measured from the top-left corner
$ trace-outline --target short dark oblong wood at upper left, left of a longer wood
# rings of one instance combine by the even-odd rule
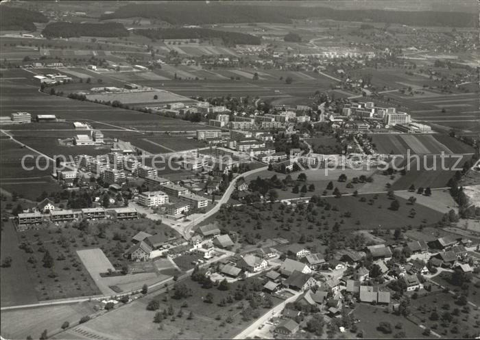
[[[120,37],[128,36],[121,23],[49,23],[42,31],[47,38],[72,38],[80,36]]]

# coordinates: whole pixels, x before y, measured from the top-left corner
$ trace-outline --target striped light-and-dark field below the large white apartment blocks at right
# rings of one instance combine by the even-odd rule
[[[444,137],[435,138],[435,134],[422,135],[422,134],[372,134],[372,142],[376,145],[377,151],[383,154],[390,154],[393,151],[394,155],[407,155],[409,151],[410,155],[422,155],[422,154],[438,154],[442,152],[446,154],[453,154],[456,151],[470,151],[471,148],[467,146],[459,146],[459,141],[450,136],[444,135]],[[463,144],[463,143],[461,143]],[[455,150],[451,150],[449,146]]]

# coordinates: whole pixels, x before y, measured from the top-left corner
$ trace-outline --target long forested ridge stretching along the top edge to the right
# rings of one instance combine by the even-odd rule
[[[291,19],[329,18],[338,21],[376,21],[417,26],[478,27],[475,12],[405,12],[387,10],[337,10],[326,7],[242,5],[179,1],[125,5],[101,19],[158,18],[172,25],[214,23],[290,23]]]

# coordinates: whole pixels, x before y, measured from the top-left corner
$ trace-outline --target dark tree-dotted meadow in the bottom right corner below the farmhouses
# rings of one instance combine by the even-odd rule
[[[448,305],[448,309],[444,306]],[[442,337],[448,338],[465,338],[475,337],[479,334],[478,328],[475,328],[475,322],[479,318],[479,311],[475,311],[472,306],[469,306],[469,312],[464,313],[463,306],[459,306],[455,302],[455,298],[450,293],[437,293],[429,296],[422,296],[418,299],[411,300],[411,318],[416,319],[417,322],[424,324],[437,332]],[[455,316],[454,309],[459,309],[459,315]],[[438,315],[442,316],[446,311],[448,314],[456,319],[457,322],[442,322],[439,318],[437,321],[431,319],[431,313],[436,311]],[[436,327],[434,326],[436,325]],[[466,335],[469,336],[466,336]],[[475,335],[476,334],[476,335]]]

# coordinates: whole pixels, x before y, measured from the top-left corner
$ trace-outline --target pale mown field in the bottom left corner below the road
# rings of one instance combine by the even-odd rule
[[[38,339],[43,330],[49,334],[60,331],[64,322],[79,322],[95,312],[94,302],[43,306],[31,309],[1,311],[1,336],[4,339]]]

